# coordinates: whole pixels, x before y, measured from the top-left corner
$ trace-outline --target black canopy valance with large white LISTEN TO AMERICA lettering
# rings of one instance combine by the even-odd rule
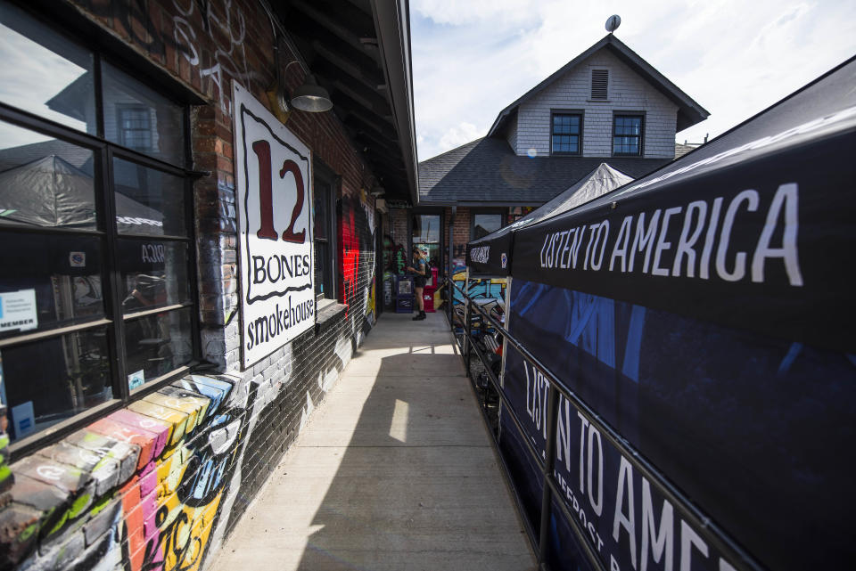
[[[856,131],[515,232],[514,276],[856,352]]]

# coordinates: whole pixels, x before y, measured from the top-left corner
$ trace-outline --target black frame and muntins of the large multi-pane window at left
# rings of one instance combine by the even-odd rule
[[[110,54],[105,53],[105,50],[101,45],[101,37],[95,37],[94,39],[90,38],[89,41],[86,41],[84,37],[76,37],[65,30],[65,28],[75,29],[77,26],[81,25],[79,20],[77,22],[45,20],[45,18],[40,14],[35,14],[28,9],[25,9],[24,12],[28,12],[31,17],[41,21],[46,28],[50,29],[51,33],[65,37],[66,39],[69,39],[77,45],[80,45],[86,50],[92,52],[95,84],[96,132],[95,135],[90,135],[84,131],[62,125],[52,119],[43,118],[36,113],[28,110],[21,110],[4,102],[0,102],[0,120],[10,125],[26,128],[41,135],[51,136],[58,141],[71,143],[93,152],[93,179],[95,181],[95,211],[97,225],[95,230],[22,226],[15,227],[12,229],[12,232],[22,234],[37,233],[43,235],[98,237],[101,240],[100,253],[103,260],[100,277],[102,281],[104,314],[102,318],[88,322],[80,322],[66,327],[55,327],[53,329],[41,330],[35,333],[25,331],[20,335],[0,339],[0,350],[4,347],[23,346],[46,339],[59,338],[62,337],[62,335],[77,331],[106,328],[107,366],[109,368],[108,374],[110,387],[112,389],[112,398],[101,404],[90,406],[89,408],[86,408],[86,410],[78,412],[77,414],[73,414],[69,418],[61,420],[49,428],[44,428],[28,436],[16,439],[12,444],[10,444],[10,451],[16,456],[27,455],[35,452],[44,445],[50,444],[63,436],[67,436],[70,432],[91,424],[98,418],[103,417],[110,412],[126,407],[128,404],[139,400],[139,398],[168,385],[175,379],[182,377],[187,372],[191,371],[195,365],[202,362],[202,346],[198,317],[199,287],[196,275],[197,257],[196,249],[193,248],[193,244],[196,243],[193,216],[193,184],[197,178],[203,175],[203,173],[193,171],[192,169],[193,154],[190,128],[190,104],[199,103],[200,101],[195,97],[195,95],[187,92],[183,87],[175,85],[175,82],[171,82],[169,85],[161,85],[161,81],[152,84],[152,88],[155,91],[181,108],[181,128],[185,132],[185,142],[184,148],[182,149],[183,152],[181,159],[183,159],[184,164],[177,165],[164,159],[146,155],[143,152],[136,151],[127,146],[123,146],[122,144],[112,143],[106,140],[104,136],[104,113],[106,112],[106,106],[103,101],[103,63],[105,61],[110,61],[112,65],[116,66],[120,70],[135,69],[133,66],[136,64],[132,62],[134,60],[138,60],[138,56],[134,57],[132,54],[130,60],[123,61],[120,54],[112,53],[112,51]],[[69,25],[62,26],[62,24]],[[148,65],[151,66],[152,64],[148,63]],[[166,77],[160,78],[162,80],[167,80]],[[181,94],[181,96],[178,97],[178,94]],[[185,235],[119,234],[118,224],[116,221],[116,187],[112,174],[112,162],[114,158],[127,160],[136,165],[152,168],[169,175],[176,175],[183,179]],[[160,306],[152,310],[136,311],[124,314],[121,306],[124,290],[120,270],[121,265],[118,248],[119,240],[156,240],[162,242],[186,243],[188,245],[187,281],[189,282],[189,296],[187,301],[169,306]],[[160,377],[147,380],[141,387],[130,389],[128,387],[128,355],[125,349],[126,323],[142,319],[147,316],[169,314],[179,311],[188,311],[190,314],[190,342],[192,346],[190,361],[179,365],[176,369],[168,371]]]

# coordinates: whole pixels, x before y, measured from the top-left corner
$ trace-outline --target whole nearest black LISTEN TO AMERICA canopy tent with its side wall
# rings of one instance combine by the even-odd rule
[[[748,553],[677,504],[674,526],[651,527],[666,521],[657,485],[560,401],[556,474],[605,567],[661,568],[664,549],[692,569],[856,557],[853,86],[856,58],[650,175],[506,232],[511,334]],[[500,448],[534,523],[543,483],[523,438],[543,453],[544,399],[511,347],[502,390],[525,433],[503,416]],[[556,513],[552,567],[589,568]],[[666,542],[640,550],[640,530]]]

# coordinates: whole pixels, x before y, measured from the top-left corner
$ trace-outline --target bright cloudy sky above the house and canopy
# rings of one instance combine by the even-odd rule
[[[411,0],[419,160],[487,134],[499,111],[606,31],[711,112],[701,142],[856,55],[852,0]]]

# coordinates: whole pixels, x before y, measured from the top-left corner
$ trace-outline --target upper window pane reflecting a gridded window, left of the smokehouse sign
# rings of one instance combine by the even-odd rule
[[[103,66],[103,86],[104,135],[108,141],[184,164],[181,106],[109,64]]]

